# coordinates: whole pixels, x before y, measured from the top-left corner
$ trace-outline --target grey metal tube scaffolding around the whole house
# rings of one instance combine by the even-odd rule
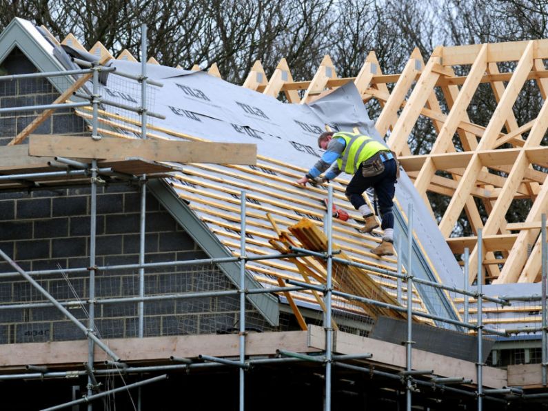
[[[147,98],[146,85],[148,83],[154,83],[154,81],[147,78],[146,73],[146,26],[142,26],[142,42],[141,42],[141,64],[142,72],[141,76],[135,78],[134,80],[138,81],[141,84],[141,106],[138,108],[124,107],[126,110],[134,110],[138,112],[141,116],[141,138],[146,139],[147,136],[147,118],[150,115],[159,117],[158,114],[150,112],[145,107],[145,101]],[[83,63],[85,64],[85,63]],[[102,70],[112,71],[107,67],[102,66],[101,64],[90,65],[90,68],[84,70],[73,70],[70,74],[92,74],[92,83],[93,91],[90,96],[90,101],[86,103],[61,103],[55,105],[45,105],[45,106],[32,106],[32,110],[43,110],[43,109],[55,109],[59,107],[81,107],[84,104],[86,106],[91,105],[93,110],[92,116],[92,139],[101,139],[101,135],[97,130],[98,124],[98,111],[99,104],[109,104],[109,101],[101,99],[101,96],[98,95],[98,82],[99,82],[99,72]],[[120,72],[114,72],[113,74],[125,75]],[[15,78],[24,78],[24,77],[39,77],[51,75],[59,76],[65,75],[68,72],[57,72],[57,73],[41,73],[41,74],[21,74],[19,76],[8,76],[9,79]],[[0,81],[8,79],[8,77],[0,77]],[[128,77],[125,75],[125,77]],[[158,85],[158,84],[156,84]],[[0,109],[0,112],[10,112],[10,111],[21,111],[24,108],[3,108]],[[210,258],[210,259],[194,259],[192,261],[167,261],[160,263],[145,263],[145,210],[146,210],[146,192],[147,192],[147,182],[148,175],[147,173],[133,175],[133,176],[124,176],[119,173],[114,172],[114,170],[108,168],[103,169],[99,168],[98,161],[92,160],[91,163],[81,163],[70,159],[57,158],[57,161],[69,165],[72,170],[63,171],[63,172],[40,172],[32,174],[12,174],[0,177],[0,181],[21,181],[21,180],[32,180],[32,179],[42,179],[50,177],[71,177],[74,175],[80,175],[85,179],[89,180],[90,184],[90,259],[89,266],[82,268],[70,268],[66,270],[41,270],[41,271],[26,271],[23,270],[19,265],[10,259],[10,257],[0,250],[0,257],[6,260],[12,268],[15,270],[14,273],[5,273],[1,274],[1,277],[10,277],[13,275],[21,275],[26,281],[28,281],[32,287],[37,290],[40,294],[48,299],[49,303],[23,303],[23,304],[12,304],[12,305],[0,305],[0,310],[14,310],[22,308],[45,308],[54,306],[60,310],[72,323],[77,325],[81,332],[85,335],[88,340],[88,361],[84,365],[84,370],[67,370],[67,371],[51,371],[47,367],[37,366],[37,365],[27,365],[28,372],[21,374],[0,374],[0,381],[3,380],[12,380],[12,379],[49,379],[49,378],[58,378],[58,377],[68,377],[68,376],[87,376],[88,385],[87,385],[87,394],[82,398],[75,401],[70,401],[68,403],[62,403],[57,406],[47,408],[47,410],[59,410],[63,408],[68,408],[72,405],[78,405],[81,403],[88,403],[88,410],[92,410],[92,401],[105,397],[106,395],[118,392],[119,390],[127,390],[131,388],[141,388],[145,384],[155,383],[161,381],[168,377],[168,372],[175,372],[179,370],[192,370],[192,369],[201,369],[201,368],[223,368],[223,367],[232,367],[239,369],[239,410],[243,411],[245,407],[245,372],[251,366],[261,366],[265,364],[272,363],[299,363],[299,362],[312,362],[319,363],[323,366],[324,377],[325,377],[325,386],[324,386],[324,410],[330,411],[332,409],[332,374],[333,367],[343,368],[347,370],[352,370],[355,372],[363,372],[371,375],[376,375],[392,380],[399,380],[405,385],[406,393],[406,409],[412,410],[413,395],[417,390],[417,386],[424,386],[429,388],[438,388],[440,395],[443,395],[443,392],[451,392],[463,397],[475,398],[477,402],[477,409],[479,411],[483,410],[483,401],[493,401],[494,403],[506,404],[508,401],[513,399],[527,400],[527,399],[538,399],[538,398],[548,398],[548,393],[540,394],[525,394],[520,388],[498,388],[498,389],[487,389],[484,388],[483,384],[483,335],[484,334],[494,334],[498,336],[507,336],[509,334],[520,334],[522,332],[541,332],[542,333],[542,385],[547,386],[547,367],[548,367],[548,348],[547,348],[547,307],[546,307],[546,277],[547,277],[547,259],[548,259],[548,250],[547,250],[547,234],[546,234],[546,217],[542,216],[542,295],[541,296],[523,296],[523,297],[489,297],[482,292],[482,263],[480,261],[480,256],[482,255],[482,234],[478,233],[478,263],[476,267],[478,268],[478,281],[476,291],[470,291],[467,288],[467,279],[469,278],[468,271],[468,257],[469,252],[465,250],[465,276],[464,276],[464,288],[458,289],[443,285],[440,283],[435,283],[433,281],[427,281],[424,279],[416,279],[413,276],[412,270],[412,233],[413,233],[413,209],[409,208],[408,210],[408,221],[407,221],[407,239],[398,239],[398,250],[402,247],[409,248],[407,255],[409,256],[408,261],[405,262],[406,272],[402,274],[401,267],[404,264],[404,261],[401,261],[401,257],[398,254],[398,272],[394,273],[389,270],[382,270],[374,265],[367,265],[364,263],[356,263],[353,261],[348,261],[346,259],[341,259],[337,257],[338,250],[333,248],[333,239],[332,239],[332,210],[333,210],[333,188],[329,186],[328,189],[328,203],[327,203],[327,214],[325,216],[325,235],[327,237],[327,250],[323,252],[307,250],[305,248],[292,247],[291,253],[279,253],[279,254],[269,254],[265,256],[258,257],[248,257],[246,254],[246,192],[245,190],[241,191],[240,202],[241,202],[241,230],[240,230],[240,252],[236,257],[223,257],[223,258]],[[77,170],[74,170],[76,168]],[[59,174],[61,173],[61,174]],[[139,181],[141,188],[141,203],[140,203],[140,220],[139,220],[139,263],[136,264],[123,264],[123,265],[105,265],[98,266],[96,261],[96,237],[97,237],[97,186],[99,178],[102,175],[110,175],[119,179],[130,179],[132,181]],[[62,181],[61,181],[62,183]],[[32,186],[32,184],[31,184]],[[324,259],[327,266],[327,280],[325,284],[323,283],[305,283],[301,281],[288,280],[287,285],[281,285],[279,287],[273,288],[246,288],[245,278],[246,278],[246,268],[245,263],[247,261],[260,261],[265,259],[287,259],[290,257],[305,257],[312,256],[320,259]],[[205,265],[205,264],[218,264],[218,263],[228,263],[234,262],[239,263],[240,267],[240,277],[239,284],[236,290],[221,290],[221,291],[211,291],[211,292],[196,292],[196,293],[174,293],[174,294],[163,294],[163,295],[145,295],[145,271],[152,268],[166,267],[166,266],[185,266],[185,265]],[[373,272],[378,272],[386,276],[393,277],[398,281],[398,294],[397,301],[401,305],[394,305],[385,303],[382,301],[376,301],[375,299],[360,297],[356,294],[349,294],[347,292],[341,292],[334,289],[333,285],[333,263],[353,265],[357,268],[363,268]],[[139,270],[139,296],[138,297],[125,297],[125,298],[111,298],[111,299],[101,299],[96,297],[95,285],[96,279],[95,275],[97,272],[109,271],[109,270],[122,270],[122,269],[136,269]],[[48,290],[45,290],[34,278],[33,276],[44,276],[49,274],[59,274],[59,273],[88,273],[89,276],[89,292],[88,298],[85,300],[70,300],[70,301],[58,301],[54,298]],[[403,284],[406,285],[407,298],[403,298]],[[437,315],[420,312],[413,309],[413,299],[412,299],[412,290],[414,285],[420,284],[429,288],[436,288],[443,290],[444,292],[451,292],[454,294],[460,294],[464,297],[464,316],[463,320],[448,319],[445,317],[440,317]],[[273,358],[246,358],[246,341],[247,341],[247,327],[246,327],[246,318],[245,318],[245,301],[246,298],[252,294],[261,294],[261,293],[276,293],[276,292],[296,292],[301,290],[315,290],[323,294],[323,301],[325,303],[325,314],[323,316],[323,330],[325,332],[325,350],[320,355],[310,355],[303,354],[301,352],[291,352],[287,350],[278,350],[276,357]],[[237,296],[239,297],[239,356],[236,360],[226,359],[222,357],[214,357],[207,355],[206,352],[199,355],[197,358],[179,358],[179,357],[170,357],[170,361],[173,364],[170,365],[150,365],[150,366],[130,366],[123,362],[121,358],[112,348],[109,347],[103,339],[97,337],[96,326],[94,324],[95,320],[95,308],[98,305],[106,304],[120,304],[120,303],[137,303],[138,306],[138,317],[139,317],[139,331],[138,337],[144,337],[144,313],[145,313],[145,303],[148,301],[158,301],[164,299],[195,299],[199,297],[219,297],[219,296]],[[376,307],[389,308],[390,310],[396,310],[398,312],[405,313],[407,317],[407,338],[405,341],[405,370],[400,372],[387,372],[382,370],[377,370],[371,365],[368,365],[367,359],[372,358],[372,353],[362,352],[359,354],[336,354],[334,352],[334,328],[332,325],[332,314],[333,314],[333,297],[338,297],[342,299],[347,299],[349,301],[360,301],[361,303],[374,305]],[[476,323],[471,323],[469,321],[469,301],[468,297],[472,297],[477,301],[477,321]],[[500,331],[494,328],[488,328],[483,324],[483,301],[489,301],[491,303],[496,303],[500,305],[510,305],[511,301],[519,301],[520,299],[527,299],[529,301],[541,301],[542,305],[542,326],[540,328],[520,328],[516,330],[505,330]],[[405,306],[403,302],[405,301]],[[70,305],[82,305],[87,306],[89,319],[87,325],[83,324],[79,319],[74,317],[74,315],[67,309]],[[413,329],[414,321],[413,319],[423,318],[434,321],[439,321],[442,323],[448,323],[453,325],[458,330],[469,330],[476,334],[477,337],[477,358],[476,363],[476,390],[470,388],[470,385],[473,383],[471,379],[466,379],[460,376],[445,376],[440,377],[434,375],[434,370],[417,370],[414,368],[414,363],[412,361],[412,347],[414,344],[413,341]],[[99,387],[97,377],[108,374],[108,370],[103,370],[101,368],[96,369],[97,360],[94,357],[94,348],[98,346],[103,350],[110,360],[105,362],[105,365],[114,366],[120,370],[123,370],[125,373],[142,373],[142,372],[157,372],[161,373],[156,377],[150,379],[143,379],[137,383],[132,383],[126,385],[123,388],[115,388],[113,390],[107,390],[97,393]],[[357,363],[355,361],[361,361]],[[163,373],[163,374],[162,374]],[[455,385],[458,385],[456,387]],[[138,408],[141,409],[141,395],[139,392],[138,397]],[[250,409],[250,407],[247,407]]]

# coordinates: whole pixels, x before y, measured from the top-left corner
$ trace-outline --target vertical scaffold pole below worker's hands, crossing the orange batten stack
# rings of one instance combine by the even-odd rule
[[[331,411],[331,374],[333,352],[332,290],[333,290],[333,187],[327,188],[327,281],[325,283],[325,411]]]

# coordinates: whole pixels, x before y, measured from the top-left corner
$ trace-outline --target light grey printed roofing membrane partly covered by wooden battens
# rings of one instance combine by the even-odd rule
[[[112,63],[123,72],[135,75],[141,72],[139,63]],[[247,253],[272,254],[274,250],[268,240],[277,236],[266,217],[267,212],[272,214],[282,230],[303,217],[323,226],[326,211],[323,199],[327,197],[327,187],[314,185],[301,188],[294,181],[302,177],[307,168],[321,157],[323,151],[317,148],[316,141],[325,126],[334,130],[358,128],[361,132],[379,138],[374,130],[374,122],[367,117],[361,97],[352,83],[307,106],[283,103],[205,72],[154,65],[148,65],[147,70],[150,78],[163,83],[163,88],[151,90],[156,97],[153,106],[148,109],[165,116],[165,120],[154,119],[150,137],[257,145],[259,159],[256,166],[184,164],[182,172],[170,181],[181,199],[188,202],[188,206],[216,234],[219,241],[234,253],[239,250],[241,190],[247,192]],[[119,103],[135,105],[140,101],[139,88],[117,88],[121,83],[110,81],[113,77],[111,75],[106,86],[102,86],[101,94]],[[108,124],[116,128],[116,132],[136,137],[139,130],[128,121],[123,121],[123,112],[112,108],[105,110],[111,115],[105,117],[103,124],[114,121]],[[89,116],[89,113],[85,115]],[[332,183],[336,206],[347,210],[352,217],[347,222],[334,221],[335,243],[355,261],[396,271],[396,257],[379,259],[371,252],[380,242],[380,231],[372,235],[358,232],[362,225],[361,215],[352,209],[344,196],[344,184],[341,184],[349,181],[349,178],[342,175],[337,179],[338,182]],[[412,182],[409,179],[403,180],[403,183],[401,181],[396,186],[398,203],[405,207],[412,201],[414,208],[420,208],[415,221],[422,220],[423,216],[431,219],[422,199],[413,197]],[[405,223],[405,217],[402,218]],[[433,228],[425,223],[416,223],[416,236],[420,241],[425,241],[420,250],[431,250],[433,245],[447,248],[445,241],[436,237],[439,232],[435,223]],[[396,227],[398,234],[402,233]],[[420,242],[418,244],[420,247]],[[449,261],[454,262],[449,248],[445,252],[449,252]],[[433,274],[436,267],[431,263],[434,261],[443,267],[440,275],[444,277],[444,282],[454,284],[451,270],[445,266],[447,264],[438,261],[443,255],[443,251],[438,251],[430,259],[427,257],[427,270],[423,267],[421,273],[415,275],[436,279],[436,274]],[[247,268],[265,286],[278,285],[274,276],[302,281],[298,269],[289,261],[250,261]],[[456,263],[453,272],[453,275],[462,275]],[[387,276],[376,276],[376,279],[388,292],[396,295],[394,279]],[[298,294],[296,298],[315,303],[309,293]],[[429,307],[417,299],[416,308],[446,315],[452,311],[443,295],[434,298],[432,294],[429,299]],[[451,316],[454,317],[454,312],[451,312]]]

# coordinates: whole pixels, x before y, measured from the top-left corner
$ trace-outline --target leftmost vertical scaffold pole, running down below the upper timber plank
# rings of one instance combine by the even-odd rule
[[[96,72],[94,72],[95,74]],[[88,307],[88,330],[90,334],[95,332],[95,243],[97,241],[97,160],[92,160],[91,167],[91,198],[90,198],[90,304]],[[88,364],[93,370],[94,366],[94,341],[88,339]],[[88,397],[93,394],[93,378],[88,375]],[[93,410],[92,403],[88,404],[88,411]]]

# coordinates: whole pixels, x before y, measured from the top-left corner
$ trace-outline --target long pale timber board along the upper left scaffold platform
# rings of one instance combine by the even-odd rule
[[[71,157],[77,159],[112,159],[141,157],[151,161],[179,163],[256,163],[255,144],[201,143],[197,141],[141,140],[58,135],[30,137],[32,156]]]

